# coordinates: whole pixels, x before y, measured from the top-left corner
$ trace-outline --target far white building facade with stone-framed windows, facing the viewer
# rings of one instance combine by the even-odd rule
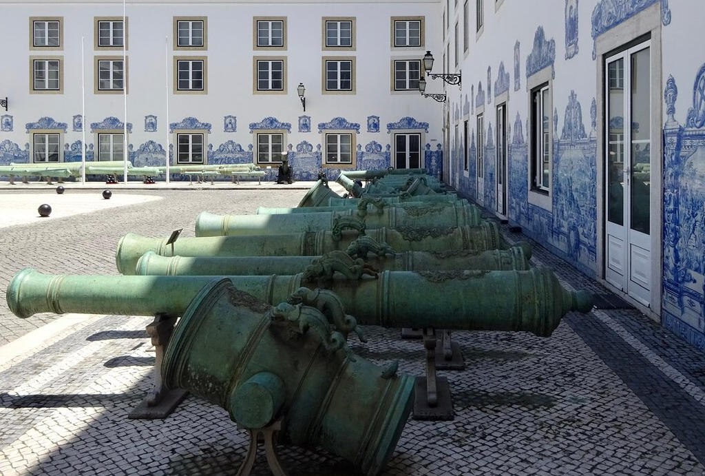
[[[420,59],[441,45],[437,1],[0,5],[0,164],[164,166],[168,151],[271,178],[287,152],[300,180],[441,171],[441,106],[418,93]]]

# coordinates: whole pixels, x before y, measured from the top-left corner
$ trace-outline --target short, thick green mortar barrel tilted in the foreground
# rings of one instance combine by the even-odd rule
[[[281,420],[279,444],[322,446],[366,476],[391,457],[414,389],[412,377],[350,352],[314,307],[271,308],[227,279],[208,283],[185,311],[161,373],[243,427]]]

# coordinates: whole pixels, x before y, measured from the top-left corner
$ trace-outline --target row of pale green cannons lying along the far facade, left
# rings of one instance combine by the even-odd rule
[[[34,163],[34,164],[10,164],[0,166],[0,176],[8,176],[10,184],[13,185],[15,177],[22,177],[27,183],[28,177],[47,178],[47,183],[51,183],[51,178],[81,178],[85,169],[85,175],[106,176],[107,183],[116,183],[117,176],[124,176],[125,162],[116,161],[90,161],[85,165],[81,162],[54,162],[54,163]],[[287,168],[288,171],[290,169]],[[209,178],[213,183],[218,176],[232,176],[233,183],[240,183],[240,178],[257,178],[262,183],[262,177],[266,176],[265,171],[260,170],[255,164],[223,164],[223,165],[177,165],[169,167],[170,173],[182,173],[188,176],[193,182],[197,178],[200,183],[202,179]],[[127,163],[128,176],[142,176],[145,183],[154,183],[154,177],[166,174],[166,166],[145,166],[135,167],[130,162]],[[288,175],[290,182],[290,172]]]

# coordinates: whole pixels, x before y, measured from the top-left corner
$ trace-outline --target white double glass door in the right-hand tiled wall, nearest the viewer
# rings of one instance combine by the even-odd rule
[[[654,285],[649,44],[611,56],[605,65],[605,279],[646,306]]]

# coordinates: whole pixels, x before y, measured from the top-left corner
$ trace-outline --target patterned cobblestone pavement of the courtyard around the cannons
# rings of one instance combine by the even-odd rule
[[[0,249],[12,254],[0,264],[0,286],[27,265],[116,273],[114,247],[126,231],[192,231],[201,209],[251,212],[255,203],[295,203],[302,192],[162,194],[157,203],[112,210],[109,219],[88,214],[55,221],[51,238],[29,226],[6,228]],[[47,243],[68,249],[50,262]],[[553,267],[565,286],[606,292],[538,245],[533,260]],[[6,307],[0,312],[3,333],[21,322]],[[150,388],[154,352],[143,330],[150,321],[85,319],[0,364],[1,474],[237,472],[245,433],[215,405],[189,396],[166,420],[126,419]],[[16,327],[13,335],[23,331]],[[385,475],[705,474],[705,354],[635,310],[570,314],[550,338],[453,336],[467,363],[464,371],[441,372],[450,382],[455,420],[409,420]],[[398,360],[400,373],[424,372],[419,341],[379,327],[367,328],[367,337],[365,344],[351,338],[356,353],[379,365]],[[280,456],[292,476],[357,474],[325,451],[283,447]],[[263,454],[255,474],[269,474]]]

